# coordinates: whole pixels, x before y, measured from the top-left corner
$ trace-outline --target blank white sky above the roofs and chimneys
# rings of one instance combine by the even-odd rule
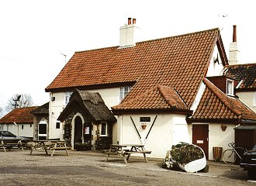
[[[242,64],[255,63],[256,2],[249,0],[0,1],[0,107],[15,94],[49,102],[45,88],[75,51],[119,45],[119,27],[137,19],[138,41],[220,28],[228,55],[233,26]]]

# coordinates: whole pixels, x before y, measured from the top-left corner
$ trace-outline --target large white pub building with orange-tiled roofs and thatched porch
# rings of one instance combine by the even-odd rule
[[[120,28],[119,46],[74,53],[46,88],[49,138],[72,146],[77,139],[95,149],[104,143],[144,143],[151,157],[165,157],[182,141],[201,146],[213,160],[213,146],[225,150],[234,141],[235,126],[256,121],[234,96],[232,78],[217,83],[227,91],[214,85],[228,65],[220,30],[136,42],[136,19],[131,20]],[[89,112],[84,104],[90,96],[84,100],[78,90],[99,94],[116,122],[106,121],[105,112],[95,119],[94,109]],[[71,95],[78,99],[66,107]],[[99,106],[95,98],[91,104]]]

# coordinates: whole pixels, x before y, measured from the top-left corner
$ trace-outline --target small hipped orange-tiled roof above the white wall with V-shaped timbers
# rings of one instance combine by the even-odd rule
[[[116,110],[178,110],[180,112],[191,112],[189,107],[185,105],[185,102],[175,91],[175,88],[157,85],[150,90],[137,96],[136,98],[130,99],[129,102],[123,102],[120,105],[112,107],[112,111]]]

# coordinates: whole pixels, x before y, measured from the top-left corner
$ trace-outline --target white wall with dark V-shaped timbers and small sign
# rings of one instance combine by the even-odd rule
[[[140,114],[131,116],[140,133],[141,140],[133,126],[130,115],[123,115],[119,116],[118,119],[118,129],[120,129],[119,144],[145,144],[145,148],[152,151],[148,157],[164,158],[166,152],[170,150],[171,146],[176,142],[181,140],[189,142],[189,130],[185,124],[185,115],[160,114],[157,115],[155,122],[154,118],[156,115]],[[150,117],[150,122],[140,122],[140,117]],[[153,122],[154,126],[150,130],[150,126]],[[174,131],[174,122],[177,122],[177,125],[175,125],[177,132]],[[142,123],[147,123],[146,129],[142,129]],[[120,127],[121,125],[122,127]],[[147,140],[145,140],[149,130],[150,133]]]

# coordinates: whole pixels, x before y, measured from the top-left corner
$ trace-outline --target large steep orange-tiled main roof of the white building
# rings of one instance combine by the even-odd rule
[[[169,105],[170,102],[163,101],[160,85],[182,100],[175,106],[187,109],[205,77],[216,44],[221,52],[220,30],[209,29],[139,42],[124,49],[108,47],[76,52],[46,91],[130,84],[133,89],[114,109],[173,109],[173,102]],[[220,56],[223,64],[227,64],[225,53]]]

